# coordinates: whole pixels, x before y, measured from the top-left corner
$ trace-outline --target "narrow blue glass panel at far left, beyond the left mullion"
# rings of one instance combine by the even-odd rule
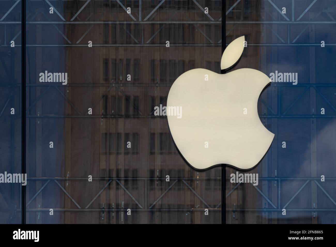
[[[21,223],[21,2],[0,1],[0,223]],[[27,16],[29,18],[29,16]],[[27,58],[28,62],[31,58]],[[14,175],[16,174],[16,175]]]

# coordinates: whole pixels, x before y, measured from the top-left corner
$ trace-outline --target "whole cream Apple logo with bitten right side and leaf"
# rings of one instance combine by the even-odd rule
[[[232,69],[244,49],[245,36],[224,50],[221,69]],[[208,80],[206,80],[208,79]],[[193,69],[170,88],[167,109],[180,107],[183,116],[167,114],[170,134],[180,155],[195,170],[227,165],[250,170],[268,151],[274,134],[261,123],[258,98],[270,84],[254,69],[217,74]]]

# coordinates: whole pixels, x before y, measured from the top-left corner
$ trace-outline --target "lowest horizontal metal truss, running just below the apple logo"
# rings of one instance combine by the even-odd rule
[[[60,189],[75,203],[75,205],[78,207],[76,209],[72,209],[72,208],[54,208],[54,211],[126,211],[127,208],[116,208],[116,209],[94,209],[94,208],[90,208],[90,205],[97,199],[97,197],[106,189],[108,188],[109,184],[115,180],[119,186],[130,196],[130,198],[138,205],[138,208],[133,208],[131,210],[134,211],[204,211],[204,209],[209,209],[209,210],[220,210],[220,206],[221,203],[219,203],[218,205],[211,207],[191,186],[189,183],[186,182],[186,180],[221,180],[220,177],[202,177],[202,178],[192,178],[192,177],[187,177],[187,178],[170,178],[173,182],[170,184],[170,186],[154,201],[154,202],[148,202],[147,201],[147,196],[145,196],[145,205],[141,206],[140,203],[134,198],[134,196],[123,186],[123,184],[120,182],[120,180],[137,180],[137,181],[145,181],[145,193],[147,191],[147,182],[149,180],[163,180],[165,181],[166,178],[126,178],[126,177],[105,177],[105,178],[92,178],[92,180],[104,180],[104,181],[108,181],[106,183],[106,185],[98,192],[98,194],[90,201],[90,203],[88,205],[85,206],[85,208],[82,208],[80,205],[78,205],[78,203],[71,197],[71,195],[69,195],[69,193],[60,185],[60,183],[58,182],[59,180],[82,180],[82,181],[87,181],[87,178],[71,178],[71,177],[31,177],[28,178],[28,181],[46,181],[43,186],[37,191],[37,193],[29,200],[29,202],[27,203],[26,207],[28,207],[33,201],[34,199],[42,192],[42,190],[47,186],[47,184],[50,181],[54,181],[58,187],[60,187]],[[226,180],[230,180],[230,177],[227,177]],[[251,182],[251,186],[253,186],[253,188],[255,188],[259,194],[265,198],[265,200],[268,202],[268,206],[271,208],[257,208],[257,209],[239,209],[239,208],[226,208],[227,211],[280,211],[282,212],[283,209],[286,209],[286,211],[311,211],[311,212],[315,212],[315,211],[336,211],[336,207],[335,208],[329,208],[329,209],[314,209],[314,208],[301,208],[301,209],[288,209],[288,205],[293,201],[293,199],[302,191],[302,189],[308,184],[309,181],[312,181],[314,183],[317,184],[317,186],[323,191],[323,193],[330,199],[330,201],[336,206],[336,202],[335,200],[326,192],[326,190],[321,186],[320,182],[318,182],[319,180],[321,180],[321,178],[312,178],[312,177],[307,177],[307,178],[280,178],[280,177],[261,177],[259,178],[259,180],[272,180],[275,181],[275,184],[278,183],[278,200],[276,202],[276,204],[278,204],[278,206],[276,206],[274,203],[272,202],[264,193],[262,193],[262,191],[257,187],[257,186],[253,186],[252,182]],[[291,199],[286,203],[282,203],[281,202],[281,182],[282,181],[288,181],[288,180],[302,180],[305,181],[305,183],[301,186],[301,188],[291,197]],[[336,178],[332,177],[332,178],[326,178],[326,180],[331,180],[331,181],[335,181]],[[173,188],[173,186],[178,182],[178,181],[182,181],[186,187],[188,189],[190,189],[195,196],[203,203],[203,206],[206,207],[196,207],[196,208],[184,208],[184,209],[162,209],[162,208],[154,208],[155,204],[161,200],[162,197],[164,197],[165,194],[168,193],[169,190],[171,190]],[[226,198],[229,197],[239,186],[241,183],[237,183],[236,186],[230,190],[227,194],[226,194]],[[148,205],[150,205],[148,207]],[[28,208],[27,211],[49,211],[49,208]]]

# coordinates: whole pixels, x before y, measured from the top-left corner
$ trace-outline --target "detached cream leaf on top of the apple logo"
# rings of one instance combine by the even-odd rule
[[[228,71],[239,61],[244,50],[245,36],[241,36],[232,41],[224,50],[220,61],[220,69]]]

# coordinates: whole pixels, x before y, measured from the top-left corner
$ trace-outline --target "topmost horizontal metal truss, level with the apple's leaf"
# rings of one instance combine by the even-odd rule
[[[118,3],[118,6],[121,7],[125,12],[127,12],[126,7],[119,1],[119,0],[115,0]],[[78,6],[78,1],[75,0],[76,2],[76,12],[74,13],[73,17],[70,20],[66,20],[64,17],[64,14],[69,12],[66,11],[64,12],[64,10],[62,9],[62,3],[59,1],[59,6],[61,6],[58,10],[48,1],[48,0],[43,0],[42,2],[44,3],[44,5],[41,5],[40,8],[35,8],[33,9],[31,7],[31,1],[27,0],[28,3],[28,17],[30,15],[33,16],[33,18],[30,18],[27,20],[27,25],[52,25],[58,33],[61,34],[61,36],[67,41],[67,44],[27,44],[27,47],[86,47],[87,44],[80,44],[80,41],[89,33],[89,31],[94,27],[94,25],[101,25],[101,24],[119,24],[119,25],[123,25],[123,24],[141,24],[141,25],[146,25],[146,24],[162,24],[162,26],[159,28],[159,30],[157,30],[155,32],[155,34],[153,34],[153,36],[150,38],[150,40],[148,40],[147,42],[143,42],[141,41],[138,42],[134,36],[127,30],[125,29],[125,27],[123,27],[126,31],[126,33],[132,37],[132,39],[136,42],[135,44],[92,44],[93,47],[126,47],[126,46],[165,46],[165,44],[154,44],[154,43],[150,43],[150,41],[166,26],[169,24],[192,24],[195,26],[195,28],[201,32],[201,34],[209,41],[209,43],[202,43],[202,44],[174,44],[171,43],[171,46],[221,46],[221,40],[217,41],[212,41],[211,39],[209,39],[209,37],[207,37],[205,35],[205,33],[198,27],[196,26],[196,24],[211,24],[211,25],[220,25],[221,24],[221,18],[218,20],[213,19],[213,17],[210,16],[210,14],[205,13],[205,15],[207,16],[208,20],[205,21],[199,21],[199,20],[191,20],[190,18],[188,18],[187,21],[181,21],[181,20],[172,20],[173,17],[175,16],[175,14],[177,12],[182,12],[184,14],[184,12],[203,12],[204,13],[204,6],[201,6],[197,0],[193,0],[193,3],[195,4],[195,10],[183,10],[183,9],[179,9],[179,10],[174,10],[172,9],[173,15],[168,19],[168,20],[164,20],[164,21],[154,21],[153,18],[156,16],[156,14],[160,11],[160,6],[166,1],[166,0],[162,0],[160,1],[160,3],[142,20],[142,1],[145,0],[138,0],[138,1],[134,1],[134,2],[138,2],[138,6],[137,8],[135,8],[137,11],[134,12],[133,10],[133,14],[137,14],[137,18],[134,17],[132,14],[128,14],[129,15],[129,19],[130,20],[125,20],[125,21],[103,21],[100,20],[102,18],[103,15],[106,14],[105,11],[103,11],[103,8],[98,8],[95,6],[95,2],[101,2],[98,0],[87,0],[81,7]],[[220,0],[218,0],[220,1]],[[230,12],[234,12],[235,11],[235,7],[236,5],[238,5],[238,3],[240,3],[241,0],[237,0],[227,11],[226,11],[226,15],[228,15]],[[312,3],[301,13],[301,15],[295,19],[294,18],[294,12],[295,12],[295,1],[296,2],[301,2],[301,0],[292,0],[292,6],[291,6],[291,13],[292,16],[287,16],[286,14],[283,14],[282,11],[279,9],[279,6],[276,5],[276,1],[272,2],[271,0],[262,0],[264,1],[264,4],[268,4],[268,8],[263,10],[264,12],[266,12],[267,14],[270,15],[270,17],[272,18],[272,20],[268,21],[268,20],[263,20],[258,13],[256,13],[254,10],[250,11],[248,10],[247,13],[249,14],[254,14],[256,15],[260,20],[258,21],[244,21],[244,20],[235,20],[235,21],[226,21],[226,24],[234,24],[234,27],[231,28],[229,30],[229,32],[226,33],[226,35],[228,35],[237,25],[244,25],[244,24],[264,24],[274,35],[276,35],[279,39],[279,41],[281,41],[280,43],[257,43],[257,44],[248,44],[249,46],[320,46],[321,43],[298,43],[296,42],[297,39],[303,34],[303,32],[310,26],[310,25],[325,25],[325,24],[336,24],[336,20],[335,18],[330,14],[330,13],[335,13],[335,9],[324,9],[322,11],[320,11],[319,13],[317,13],[317,15],[314,17],[314,19],[311,19],[309,21],[303,21],[301,20],[302,17],[309,11],[309,9],[311,9],[312,6],[317,5],[318,3],[317,0],[313,0]],[[6,26],[8,25],[20,25],[21,22],[17,22],[17,21],[10,21],[10,20],[6,20],[7,16],[9,15],[9,13],[11,12],[15,12],[16,8],[15,6],[18,4],[18,2],[20,2],[20,0],[16,1],[8,10],[7,12],[1,17],[0,19],[0,25],[4,25],[5,28],[4,30],[6,30]],[[67,1],[64,1],[67,2]],[[109,5],[111,1],[108,1]],[[168,0],[167,0],[168,2]],[[47,15],[45,13],[49,12],[49,7],[53,7],[54,11],[56,13],[56,15],[58,16],[58,18],[60,20],[50,20]],[[198,8],[197,8],[198,7]],[[277,12],[279,12],[279,17],[274,17],[272,14],[269,13],[269,11],[267,10],[271,10],[271,9],[275,9]],[[72,11],[72,10],[71,10]],[[111,13],[117,13],[117,11],[119,11],[119,9],[113,9],[110,6],[109,12]],[[167,12],[169,10],[165,9],[165,12]],[[296,11],[298,12],[298,11]],[[328,15],[328,17],[330,18],[330,20],[327,21],[320,21],[317,20],[317,17],[324,12],[326,15]],[[35,21],[33,20],[36,15],[38,13],[42,13],[44,15],[44,17],[47,19],[47,21]],[[79,15],[81,13],[90,13],[90,15],[85,19],[85,20],[81,20]],[[98,20],[89,20],[93,13],[101,13],[101,16],[99,17]],[[185,14],[184,14],[185,15]],[[71,42],[58,28],[56,25],[73,25],[73,24],[87,24],[90,25],[90,27],[88,28],[88,30],[83,34],[83,36],[76,42],[73,43]],[[272,29],[271,26],[269,26],[269,24],[272,25],[287,25],[287,41],[285,41],[283,38],[281,38],[281,36],[274,30]],[[294,39],[290,37],[290,31],[289,25],[302,25],[302,24],[306,24],[306,27],[302,30],[302,32],[300,32]],[[5,31],[4,31],[5,32]],[[19,33],[18,33],[19,34]],[[17,35],[18,35],[17,34]],[[5,36],[6,37],[6,36]],[[13,39],[14,40],[17,36],[15,36]],[[227,45],[227,44],[226,44]],[[335,46],[335,43],[326,43],[325,46]],[[5,40],[5,43],[3,45],[1,45],[0,47],[9,47],[10,45],[8,44],[7,40]],[[17,44],[16,46],[20,46],[20,44]]]

